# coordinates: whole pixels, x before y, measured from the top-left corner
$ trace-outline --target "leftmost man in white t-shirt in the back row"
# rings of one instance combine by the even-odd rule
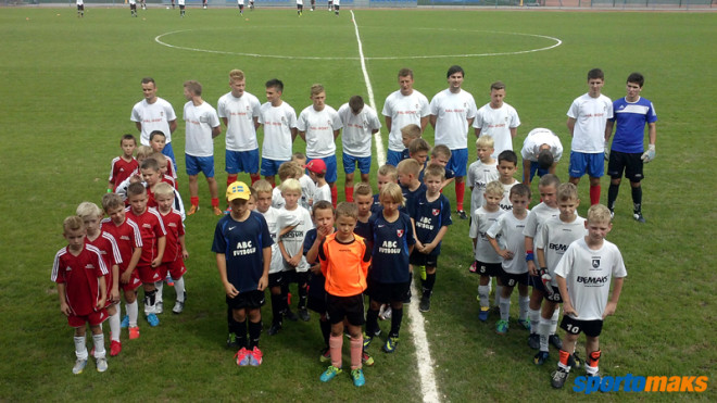
[[[142,93],[144,93],[144,99],[135,104],[129,116],[140,133],[139,142],[142,146],[149,146],[150,133],[154,130],[164,133],[166,142],[162,153],[172,159],[176,169],[177,161],[172,149],[172,134],[177,129],[177,115],[174,113],[174,108],[169,102],[156,96],[156,83],[152,77],[142,78]]]

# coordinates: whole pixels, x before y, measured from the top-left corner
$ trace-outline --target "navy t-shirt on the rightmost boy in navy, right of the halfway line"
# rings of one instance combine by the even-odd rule
[[[432,242],[442,226],[453,224],[451,203],[443,194],[439,194],[432,202],[428,201],[426,193],[418,196],[408,205],[408,215],[416,222],[416,239],[423,244]],[[429,255],[437,256],[439,253],[441,253],[440,243]]]

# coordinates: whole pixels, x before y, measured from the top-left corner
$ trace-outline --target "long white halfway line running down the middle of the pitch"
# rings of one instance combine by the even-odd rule
[[[368,78],[368,71],[366,70],[364,46],[361,42],[358,25],[356,24],[356,16],[353,14],[353,10],[351,11],[351,22],[353,23],[353,27],[356,33],[356,42],[358,43],[358,59],[361,60],[361,71],[364,74],[364,81],[366,81],[368,102],[370,106],[376,110],[374,89],[370,85],[370,79]],[[378,110],[376,112],[379,113]],[[387,129],[390,130],[391,128],[387,127]],[[376,143],[376,160],[378,165],[383,165],[386,163],[386,151],[383,150],[383,139],[381,138],[380,130],[374,135],[374,142]],[[413,337],[413,341],[416,347],[416,361],[418,364],[418,377],[420,379],[420,393],[424,396],[424,402],[426,403],[440,402],[438,385],[436,383],[436,375],[433,374],[433,360],[430,356],[430,344],[428,343],[428,337],[426,336],[426,328],[424,326],[424,316],[420,314],[420,312],[418,312],[418,304],[415,301],[415,295],[419,295],[419,293],[415,284],[412,284],[411,287],[414,301],[413,303],[408,304],[408,317],[411,317],[408,330],[411,331],[411,336]]]

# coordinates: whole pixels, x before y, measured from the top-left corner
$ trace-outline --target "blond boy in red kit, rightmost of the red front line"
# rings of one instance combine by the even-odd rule
[[[160,215],[164,224],[164,229],[167,231],[166,247],[164,248],[164,255],[162,256],[162,265],[160,266],[160,278],[165,278],[167,274],[174,280],[174,289],[177,292],[177,300],[172,308],[175,314],[180,314],[185,308],[185,299],[187,292],[185,290],[184,275],[187,273],[185,267],[185,259],[189,257],[187,245],[185,244],[185,225],[181,222],[181,215],[174,206],[174,188],[169,184],[161,182],[154,187],[154,200],[159,205]],[[162,305],[162,280],[155,284],[158,289],[158,305]]]

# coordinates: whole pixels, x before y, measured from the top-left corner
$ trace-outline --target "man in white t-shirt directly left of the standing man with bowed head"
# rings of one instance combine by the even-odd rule
[[[326,90],[320,84],[311,86],[312,104],[304,108],[297,119],[299,136],[306,141],[306,162],[323,160],[326,164],[326,181],[331,188],[331,201],[336,206],[338,177],[336,139],[341,130],[341,119],[336,110],[326,104]]]

